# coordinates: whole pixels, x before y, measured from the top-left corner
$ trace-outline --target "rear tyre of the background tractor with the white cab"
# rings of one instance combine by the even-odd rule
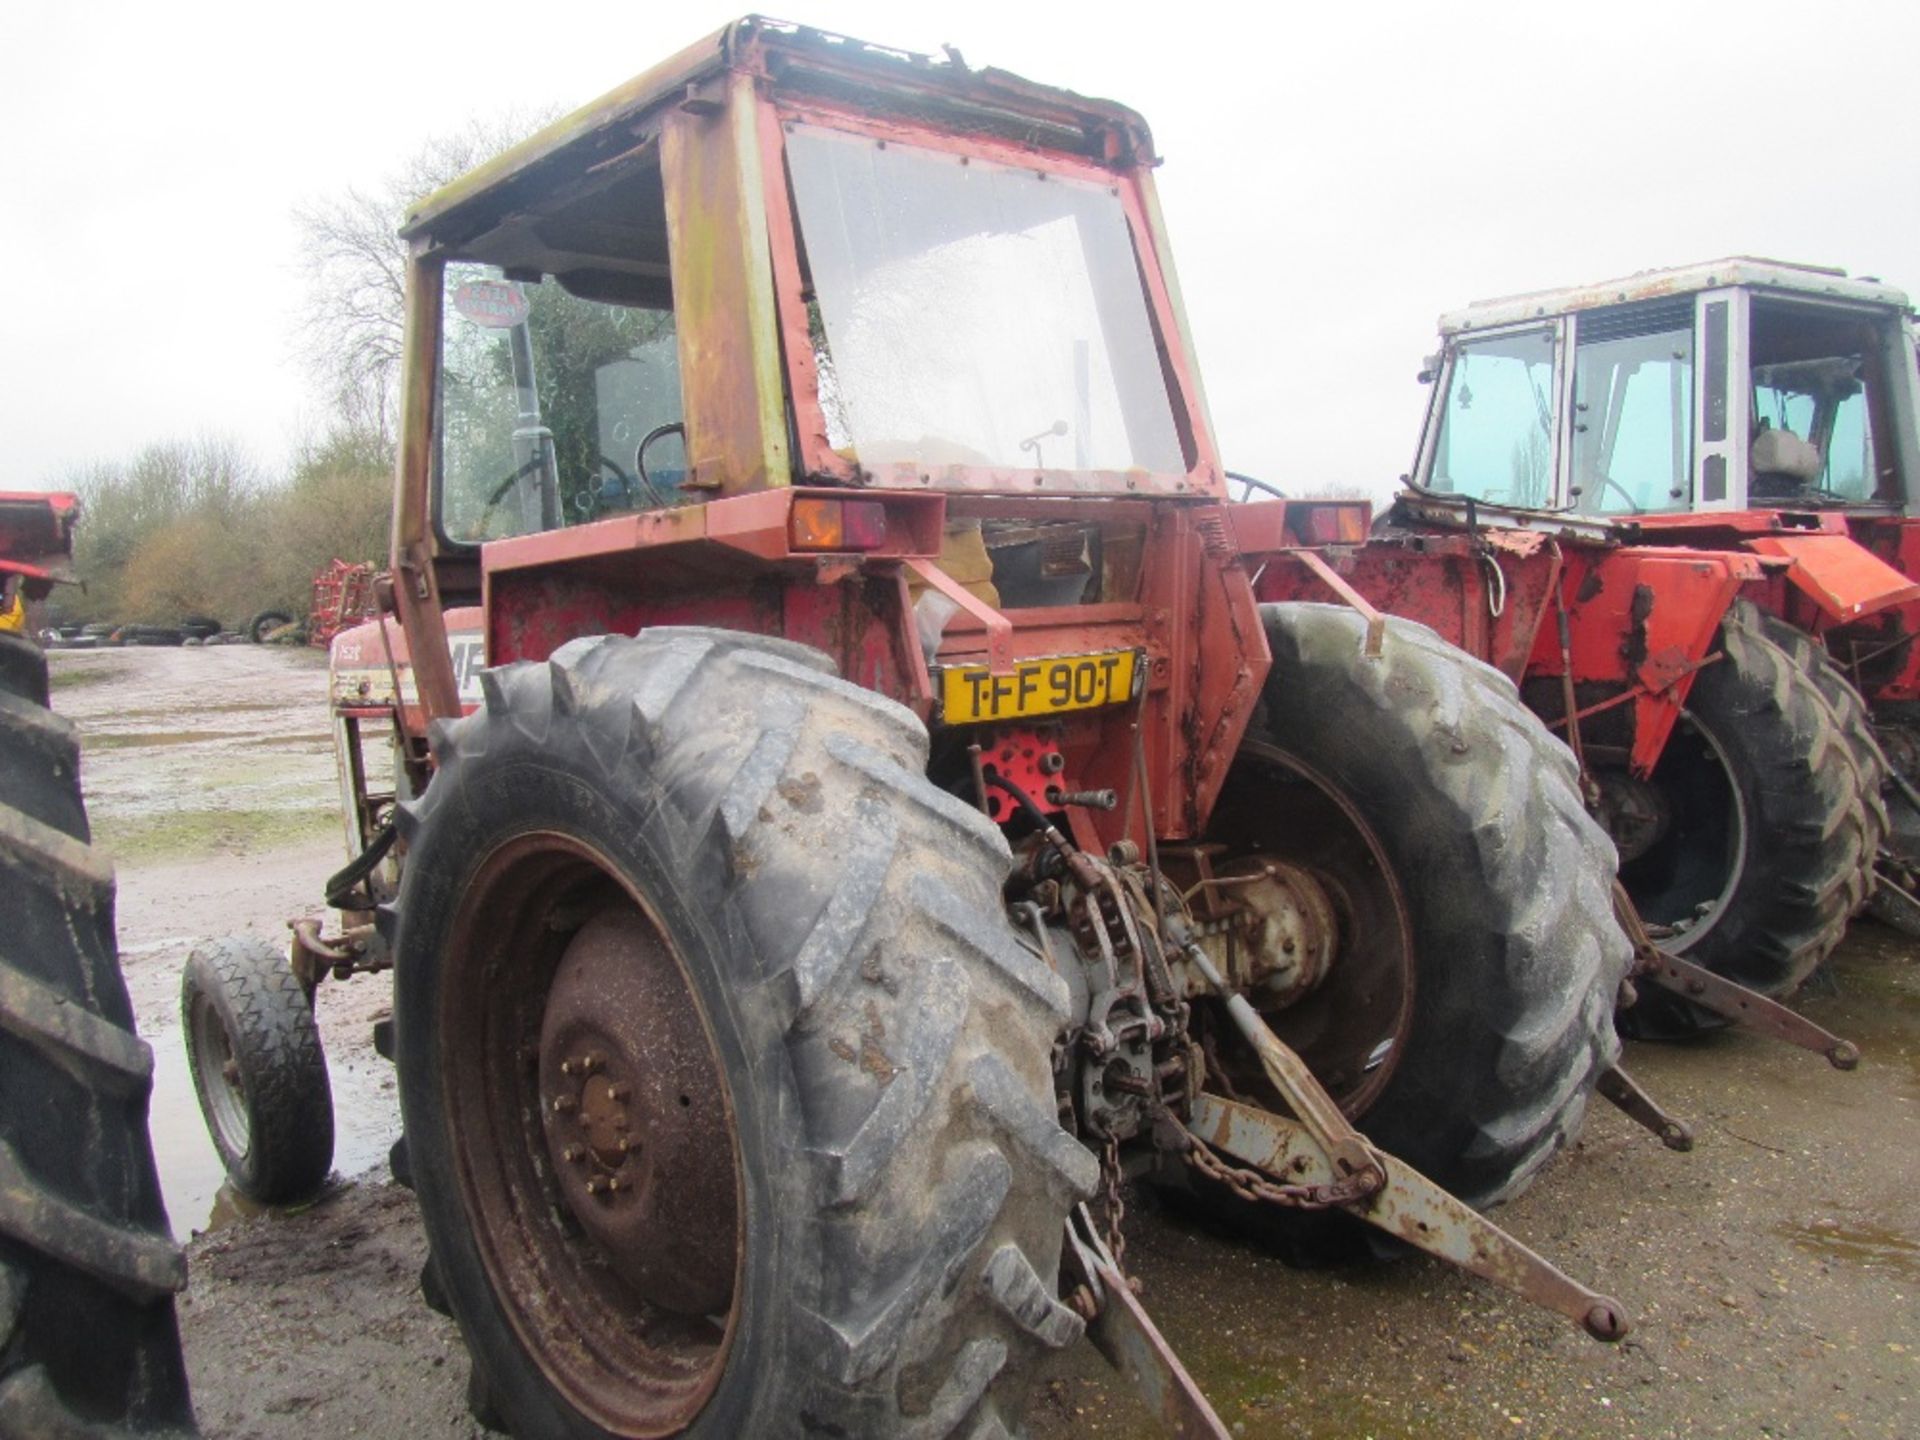
[[[1814,672],[1736,601],[1653,770],[1665,833],[1620,866],[1655,939],[1761,995],[1786,996],[1839,945],[1878,849],[1857,749]],[[1724,1021],[1661,991],[1620,1012],[1638,1039]]]

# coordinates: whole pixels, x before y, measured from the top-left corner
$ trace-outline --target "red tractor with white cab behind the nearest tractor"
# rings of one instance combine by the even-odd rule
[[[1874,874],[1874,722],[1905,745],[1920,684],[1905,296],[1728,259],[1478,303],[1440,334],[1405,492],[1319,568],[1521,685],[1661,948],[1789,995],[1876,887],[1910,906],[1905,872]],[[1258,591],[1329,584],[1279,563]],[[1659,996],[1626,1023],[1713,1018]]]

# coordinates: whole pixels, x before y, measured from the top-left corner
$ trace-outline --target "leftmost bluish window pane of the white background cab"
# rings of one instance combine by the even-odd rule
[[[1494,505],[1553,503],[1551,328],[1453,351],[1427,486]]]

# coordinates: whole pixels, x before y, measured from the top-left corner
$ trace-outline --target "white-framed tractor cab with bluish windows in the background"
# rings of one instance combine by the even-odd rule
[[[1642,522],[1905,511],[1920,474],[1907,296],[1724,259],[1440,319],[1427,499]]]

